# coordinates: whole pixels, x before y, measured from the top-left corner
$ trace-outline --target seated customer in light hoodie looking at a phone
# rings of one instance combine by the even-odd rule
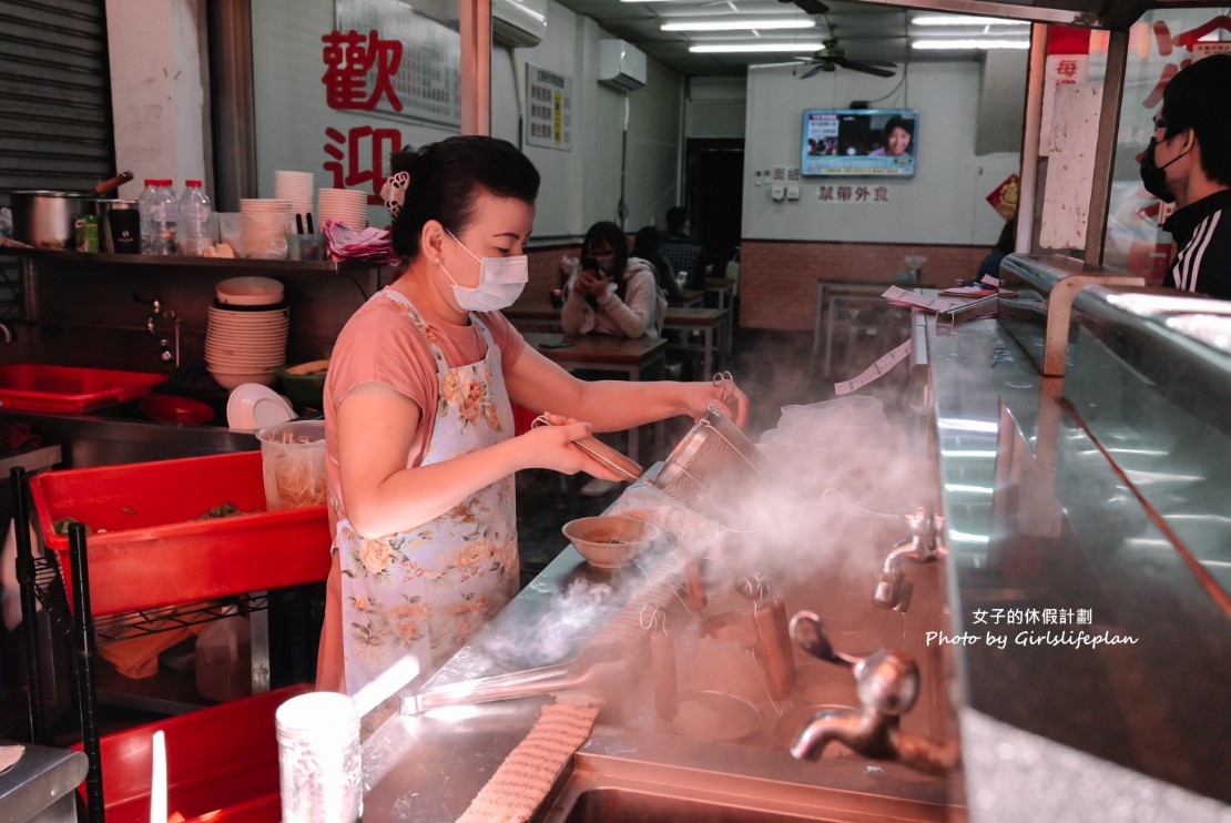
[[[654,270],[629,256],[624,232],[607,221],[591,225],[577,270],[564,287],[564,333],[657,338],[665,312]]]

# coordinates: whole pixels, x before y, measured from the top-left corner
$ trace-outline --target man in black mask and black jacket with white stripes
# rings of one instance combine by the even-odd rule
[[[1178,248],[1163,286],[1231,299],[1231,54],[1198,60],[1167,84],[1141,181],[1177,206],[1163,223]]]

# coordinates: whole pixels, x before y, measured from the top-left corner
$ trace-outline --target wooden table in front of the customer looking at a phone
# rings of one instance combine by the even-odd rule
[[[524,331],[526,343],[548,360],[569,371],[588,368],[618,372],[628,379],[662,379],[667,366],[667,341],[664,338],[613,338],[607,334],[563,335],[542,331]],[[559,344],[569,344],[560,346]],[[665,426],[660,420],[654,426],[655,437],[661,441]],[[641,437],[639,431],[629,432],[629,457],[640,463]]]

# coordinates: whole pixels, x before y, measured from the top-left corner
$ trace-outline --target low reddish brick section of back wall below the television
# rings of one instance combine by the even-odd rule
[[[902,257],[927,257],[924,286],[972,277],[986,246],[744,240],[740,244],[740,326],[806,330],[816,319],[816,281],[891,283]],[[559,255],[558,255],[559,259]]]

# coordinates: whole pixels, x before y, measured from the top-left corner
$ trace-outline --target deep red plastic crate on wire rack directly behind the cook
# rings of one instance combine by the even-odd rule
[[[96,617],[329,575],[325,506],[265,511],[259,451],[42,472],[31,497],[70,606],[69,538],[53,524],[69,516],[94,530],[86,557]],[[224,503],[255,514],[199,520]]]

